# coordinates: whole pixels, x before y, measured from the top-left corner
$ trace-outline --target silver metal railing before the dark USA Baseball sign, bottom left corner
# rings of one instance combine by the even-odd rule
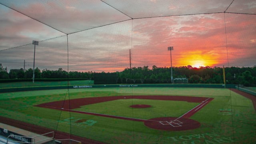
[[[46,136],[52,134],[52,136]],[[10,140],[10,138],[12,139],[16,139],[16,140]],[[20,142],[22,144],[36,144],[45,140],[49,140],[49,139],[53,139],[54,138],[54,132],[48,132],[46,134],[40,134],[38,136],[33,136],[33,137],[29,137],[29,136],[19,136],[19,135],[10,135],[7,137],[6,140],[6,144],[8,144],[8,142]],[[36,139],[38,141],[36,141]]]

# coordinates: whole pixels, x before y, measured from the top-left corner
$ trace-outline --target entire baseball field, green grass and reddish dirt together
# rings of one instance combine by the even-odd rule
[[[0,93],[0,122],[108,144],[256,142],[256,98],[228,88],[74,88]]]

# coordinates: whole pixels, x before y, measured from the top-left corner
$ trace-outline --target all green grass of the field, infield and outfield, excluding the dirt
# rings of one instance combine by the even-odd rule
[[[200,128],[186,131],[161,131],[144,126],[143,122],[69,113],[34,105],[64,99],[126,95],[201,96],[214,98],[191,119]],[[21,120],[74,135],[111,144],[166,143],[251,143],[256,141],[256,112],[251,100],[224,88],[90,88],[40,90],[0,94],[0,116]],[[130,108],[132,104],[150,104],[151,108]],[[155,118],[180,116],[198,103],[184,101],[126,99],[82,106],[76,110],[127,116]],[[90,120],[92,123],[76,123]],[[71,130],[70,130],[71,124]],[[226,138],[226,139],[225,139]],[[218,142],[219,140],[219,142]],[[232,142],[235,141],[235,142]]]

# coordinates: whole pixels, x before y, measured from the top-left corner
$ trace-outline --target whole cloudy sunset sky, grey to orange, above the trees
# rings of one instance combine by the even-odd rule
[[[256,65],[254,0],[105,2],[112,7],[101,1],[0,2],[0,63],[20,69],[25,60],[25,69],[33,68],[37,40],[40,70],[122,71],[130,67],[130,50],[132,67],[170,67],[169,46],[172,66]]]

